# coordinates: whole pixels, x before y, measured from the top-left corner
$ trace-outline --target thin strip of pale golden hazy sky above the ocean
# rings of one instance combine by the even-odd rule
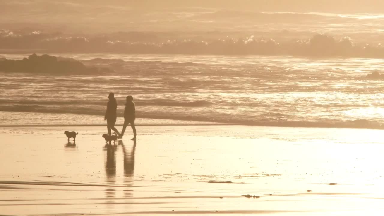
[[[16,9],[20,5],[44,7],[46,4],[68,2],[74,4],[114,5],[140,7],[142,9],[162,7],[214,7],[246,9],[256,11],[292,12],[339,12],[339,13],[382,13],[382,0],[11,0],[0,1],[0,12]],[[7,7],[4,5],[8,5]],[[9,7],[12,5],[12,7]]]

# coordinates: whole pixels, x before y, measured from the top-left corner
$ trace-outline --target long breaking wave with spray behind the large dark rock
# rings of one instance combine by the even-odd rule
[[[3,32],[5,31],[3,30]],[[4,36],[4,33],[0,35],[3,35],[3,37],[0,36],[0,47],[15,52],[18,49],[38,49],[46,53],[167,53],[384,58],[384,46],[379,42],[354,43],[350,37],[336,39],[326,34],[280,41],[250,35],[242,38],[174,39],[158,42],[117,40],[108,37],[65,37],[64,35],[50,38],[52,35],[49,34],[37,37],[25,35],[10,37]],[[114,60],[114,63],[120,64],[121,61]]]

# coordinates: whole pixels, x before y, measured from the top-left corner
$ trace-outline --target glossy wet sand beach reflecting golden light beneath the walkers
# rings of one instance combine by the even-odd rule
[[[0,215],[384,212],[381,130],[139,126],[116,145],[105,130],[0,127]]]

